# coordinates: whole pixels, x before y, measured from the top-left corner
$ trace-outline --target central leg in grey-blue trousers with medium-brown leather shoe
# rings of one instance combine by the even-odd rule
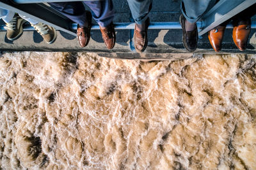
[[[134,28],[134,47],[137,52],[147,48],[147,29],[150,24],[148,13],[152,8],[152,0],[127,0],[132,18],[136,22]]]

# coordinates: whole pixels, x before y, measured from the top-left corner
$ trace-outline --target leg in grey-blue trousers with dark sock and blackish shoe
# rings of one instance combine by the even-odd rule
[[[183,44],[189,52],[196,50],[198,41],[198,32],[196,21],[207,10],[210,3],[215,0],[182,0],[182,15],[180,16],[180,24],[183,31]]]

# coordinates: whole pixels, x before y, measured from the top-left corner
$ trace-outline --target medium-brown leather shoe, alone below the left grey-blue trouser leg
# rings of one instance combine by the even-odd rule
[[[136,52],[144,52],[148,45],[148,26],[150,24],[150,19],[147,18],[146,22],[146,29],[145,31],[137,31],[136,27],[137,24],[135,24],[134,28],[134,47]]]

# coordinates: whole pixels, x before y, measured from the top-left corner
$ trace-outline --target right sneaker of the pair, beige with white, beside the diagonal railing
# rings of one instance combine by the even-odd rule
[[[44,41],[46,43],[51,44],[55,41],[57,33],[54,27],[50,27],[49,25],[43,24],[42,22],[38,22],[38,24],[31,25],[44,38]]]

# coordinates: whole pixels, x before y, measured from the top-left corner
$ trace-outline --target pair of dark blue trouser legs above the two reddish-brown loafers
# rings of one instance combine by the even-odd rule
[[[92,10],[92,17],[100,25],[100,27],[106,27],[111,24],[115,15],[115,10],[111,0],[77,1],[49,4],[52,6],[52,8],[60,11],[60,13],[70,18],[70,20],[81,26],[85,26],[87,20],[83,3]]]

